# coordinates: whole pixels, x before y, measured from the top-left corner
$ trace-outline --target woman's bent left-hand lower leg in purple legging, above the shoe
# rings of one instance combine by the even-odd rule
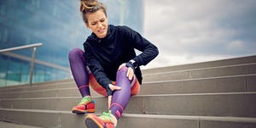
[[[86,70],[83,50],[74,48],[69,52],[68,59],[73,74],[73,79],[79,87],[79,92],[81,93],[82,97],[90,96],[89,75]]]

